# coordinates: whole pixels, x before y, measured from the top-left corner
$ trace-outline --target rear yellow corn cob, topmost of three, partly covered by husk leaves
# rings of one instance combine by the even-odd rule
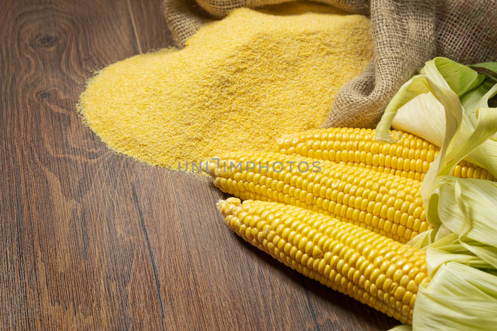
[[[440,148],[414,134],[401,134],[397,144],[374,141],[376,130],[331,128],[294,133],[276,140],[276,151],[287,155],[343,162],[349,166],[422,181]],[[479,166],[461,161],[454,176],[495,181],[494,176]]]

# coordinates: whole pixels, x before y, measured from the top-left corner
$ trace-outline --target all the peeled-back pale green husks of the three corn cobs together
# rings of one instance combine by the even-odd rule
[[[388,129],[397,114],[406,121],[410,117],[413,126],[423,125],[442,132],[437,138],[442,148],[421,187],[427,220],[434,228],[410,242],[426,249],[430,277],[430,282],[421,284],[418,289],[412,330],[494,330],[497,325],[497,183],[449,174],[457,163],[468,157],[479,163],[470,162],[489,171],[496,170],[496,159],[489,155],[488,149],[492,147],[489,141],[495,141],[497,111],[486,107],[488,98],[495,93],[495,85],[489,87],[491,84],[481,80],[478,74],[459,80],[452,75],[449,81],[442,83],[433,73],[435,62],[432,65],[425,66],[421,75],[401,88],[377,128],[382,132],[380,140],[393,142],[396,137],[390,136]],[[455,88],[457,84],[461,86]],[[487,85],[482,86],[484,84]],[[469,113],[460,98],[468,105],[474,103],[471,100],[476,99],[475,95],[482,94],[475,89],[488,90]],[[413,104],[420,108],[409,108]],[[403,106],[411,113],[402,113]],[[425,117],[418,119],[417,115],[413,116],[414,112]],[[420,136],[430,140],[426,135]],[[396,329],[399,330],[410,329],[402,326]]]

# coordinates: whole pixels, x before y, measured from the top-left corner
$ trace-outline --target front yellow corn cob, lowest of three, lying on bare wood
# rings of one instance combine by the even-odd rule
[[[322,284],[412,324],[425,251],[297,206],[229,198],[217,207],[252,245]]]

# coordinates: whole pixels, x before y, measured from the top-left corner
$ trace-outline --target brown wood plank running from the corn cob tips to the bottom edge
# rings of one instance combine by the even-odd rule
[[[215,207],[222,193],[194,176],[170,178],[207,329],[316,329],[301,276],[232,233]]]

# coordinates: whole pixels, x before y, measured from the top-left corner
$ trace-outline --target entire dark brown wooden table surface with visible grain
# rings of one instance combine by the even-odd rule
[[[0,330],[387,330],[232,233],[211,183],[117,155],[95,69],[172,45],[160,0],[0,0]]]

